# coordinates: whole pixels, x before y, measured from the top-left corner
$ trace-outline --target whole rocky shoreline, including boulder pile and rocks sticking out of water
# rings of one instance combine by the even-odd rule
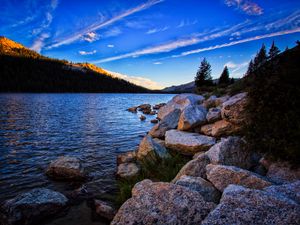
[[[111,224],[300,224],[300,169],[246,150],[240,135],[246,102],[247,93],[208,99],[180,94],[168,103],[129,108],[141,111],[141,120],[157,119],[136,151],[117,157],[119,179],[133,180],[146,162],[159,164],[174,153],[190,161],[170,182],[136,183],[119,210],[93,199],[95,213]],[[68,156],[51,162],[45,173],[62,181],[90,179],[80,160]],[[72,197],[33,189],[0,206],[0,224],[39,224],[88,192],[85,185]]]

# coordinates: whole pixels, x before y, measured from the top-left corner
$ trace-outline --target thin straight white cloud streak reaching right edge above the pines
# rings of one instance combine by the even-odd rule
[[[188,55],[192,55],[192,54],[197,54],[200,52],[206,52],[206,51],[211,51],[211,50],[215,50],[215,49],[230,47],[233,45],[238,45],[238,44],[242,44],[242,43],[246,43],[246,42],[251,42],[251,41],[256,41],[256,40],[260,40],[260,39],[276,37],[276,36],[282,36],[282,35],[286,35],[286,34],[299,33],[299,32],[300,32],[300,28],[295,28],[292,30],[284,30],[284,31],[278,31],[278,32],[269,33],[269,34],[257,35],[254,37],[249,37],[249,38],[245,38],[245,39],[238,40],[238,41],[232,41],[232,42],[224,43],[224,44],[220,44],[220,45],[214,45],[214,46],[209,46],[206,48],[199,48],[199,49],[195,49],[195,50],[191,50],[191,51],[182,52],[181,54],[173,55],[172,57],[173,58],[183,57],[183,56],[188,56]]]

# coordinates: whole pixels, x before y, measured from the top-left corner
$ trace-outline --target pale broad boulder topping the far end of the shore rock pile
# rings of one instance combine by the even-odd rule
[[[199,105],[204,101],[204,97],[196,94],[180,94],[174,96],[165,106],[158,111],[157,118],[162,120],[174,109],[185,109],[188,105]]]

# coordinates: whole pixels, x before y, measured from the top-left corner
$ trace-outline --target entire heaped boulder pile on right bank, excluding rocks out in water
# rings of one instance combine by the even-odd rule
[[[111,224],[300,224],[300,169],[248,152],[237,136],[246,101],[246,93],[183,94],[161,107],[159,123],[119,165],[168,151],[193,159],[170,183],[137,183]]]

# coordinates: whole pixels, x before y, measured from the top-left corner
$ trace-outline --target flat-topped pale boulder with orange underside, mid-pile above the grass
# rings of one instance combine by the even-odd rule
[[[213,137],[178,130],[167,131],[165,140],[167,148],[184,155],[194,155],[197,152],[206,151],[216,143]]]

